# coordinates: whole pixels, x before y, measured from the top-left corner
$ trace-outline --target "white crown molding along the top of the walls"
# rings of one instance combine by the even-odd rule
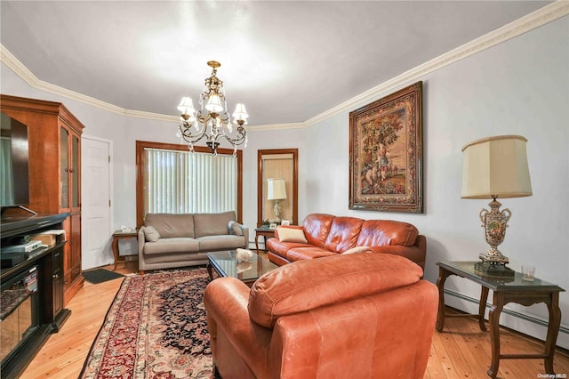
[[[332,109],[328,109],[315,117],[309,118],[305,122],[274,125],[249,125],[248,128],[252,131],[266,131],[276,129],[300,129],[309,127],[311,125],[316,125],[325,119],[333,117],[334,115],[337,115],[341,112],[356,109],[358,105],[365,103],[365,101],[377,99],[383,93],[397,90],[398,88],[421,79],[421,77],[424,77],[430,72],[433,72],[437,69],[442,69],[457,60],[462,60],[469,57],[470,55],[476,54],[477,52],[482,52],[485,49],[493,47],[496,44],[501,44],[502,42],[508,41],[511,38],[533,30],[534,28],[539,28],[542,25],[547,24],[553,20],[560,19],[567,14],[569,14],[569,1],[557,0],[555,3],[548,4],[535,12],[529,13],[518,20],[512,21],[501,28],[493,30],[492,32],[485,34],[485,36],[480,36],[477,39],[470,41],[467,44],[463,44],[450,52],[446,52],[445,54],[440,55],[433,60],[429,60],[414,69],[410,69],[397,77],[393,77],[387,82],[384,82],[381,85],[377,85],[370,90],[365,91],[365,93],[361,93],[356,97],[349,99],[348,101],[342,102]],[[28,85],[41,91],[57,94],[71,100],[83,102],[84,104],[107,110],[120,116],[172,122],[178,122],[179,119],[179,117],[174,117],[171,115],[162,115],[141,110],[124,109],[108,102],[97,100],[91,96],[87,96],[82,93],[76,93],[58,85],[52,85],[51,83],[44,82],[43,80],[38,79],[28,68],[26,68],[20,62],[20,60],[14,57],[12,53],[4,47],[3,44],[0,44],[0,62],[4,63],[8,69],[11,69],[16,75],[28,83]]]

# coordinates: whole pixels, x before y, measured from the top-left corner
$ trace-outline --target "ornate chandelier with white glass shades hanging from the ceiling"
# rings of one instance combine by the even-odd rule
[[[194,109],[194,104],[189,97],[183,97],[178,109],[180,116],[180,131],[177,133],[183,141],[188,143],[189,151],[194,151],[194,143],[205,138],[205,144],[217,154],[220,146],[220,138],[225,138],[233,145],[233,153],[236,154],[237,145],[244,143],[247,147],[247,131],[244,125],[247,124],[247,110],[244,104],[238,103],[233,112],[233,119],[236,124],[236,131],[231,124],[225,100],[225,90],[223,82],[216,76],[217,69],[221,64],[218,61],[210,60],[207,65],[212,68],[212,76],[205,79],[204,92],[199,98],[200,109]]]

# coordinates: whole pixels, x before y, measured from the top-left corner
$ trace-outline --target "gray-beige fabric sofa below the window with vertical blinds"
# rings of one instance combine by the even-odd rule
[[[147,214],[139,231],[139,270],[207,263],[208,252],[247,248],[249,228],[235,212]]]

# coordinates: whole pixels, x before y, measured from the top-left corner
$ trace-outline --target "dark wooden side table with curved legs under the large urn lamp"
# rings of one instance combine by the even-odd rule
[[[561,324],[561,310],[559,310],[559,292],[563,288],[534,278],[533,281],[522,279],[520,272],[511,277],[487,277],[477,270],[478,262],[438,262],[438,314],[437,331],[442,332],[445,327],[445,317],[476,316],[480,329],[485,331],[485,307],[488,291],[493,290],[493,305],[488,314],[490,326],[490,342],[492,344],[492,362],[486,374],[492,378],[498,375],[500,359],[543,359],[547,374],[553,373],[553,354],[557,342],[557,334]],[[480,303],[477,315],[445,315],[445,280],[451,275],[467,278],[482,286]],[[545,340],[545,351],[542,354],[501,354],[500,353],[500,314],[504,305],[516,302],[525,306],[544,302],[549,310],[548,334]]]

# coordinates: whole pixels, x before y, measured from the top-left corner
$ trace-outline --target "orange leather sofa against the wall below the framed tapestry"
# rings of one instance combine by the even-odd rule
[[[284,228],[302,230],[305,240],[288,237],[289,230]],[[283,238],[283,231],[287,231],[287,238]],[[301,226],[279,226],[275,238],[269,238],[266,245],[268,260],[278,266],[346,254],[366,246],[367,252],[405,256],[424,269],[427,252],[427,239],[410,223],[332,214],[309,214]]]

